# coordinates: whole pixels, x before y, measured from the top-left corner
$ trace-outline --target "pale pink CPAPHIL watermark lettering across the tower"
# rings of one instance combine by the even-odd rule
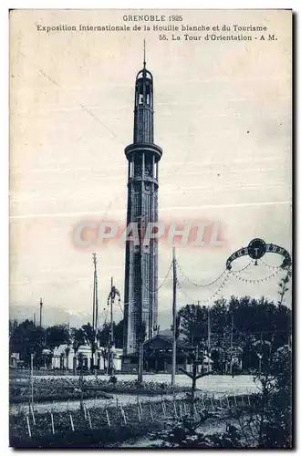
[[[217,222],[131,222],[122,227],[117,222],[81,222],[74,228],[73,243],[79,248],[117,241],[120,246],[133,243],[148,248],[151,243],[179,244],[180,246],[222,246],[221,224]]]

